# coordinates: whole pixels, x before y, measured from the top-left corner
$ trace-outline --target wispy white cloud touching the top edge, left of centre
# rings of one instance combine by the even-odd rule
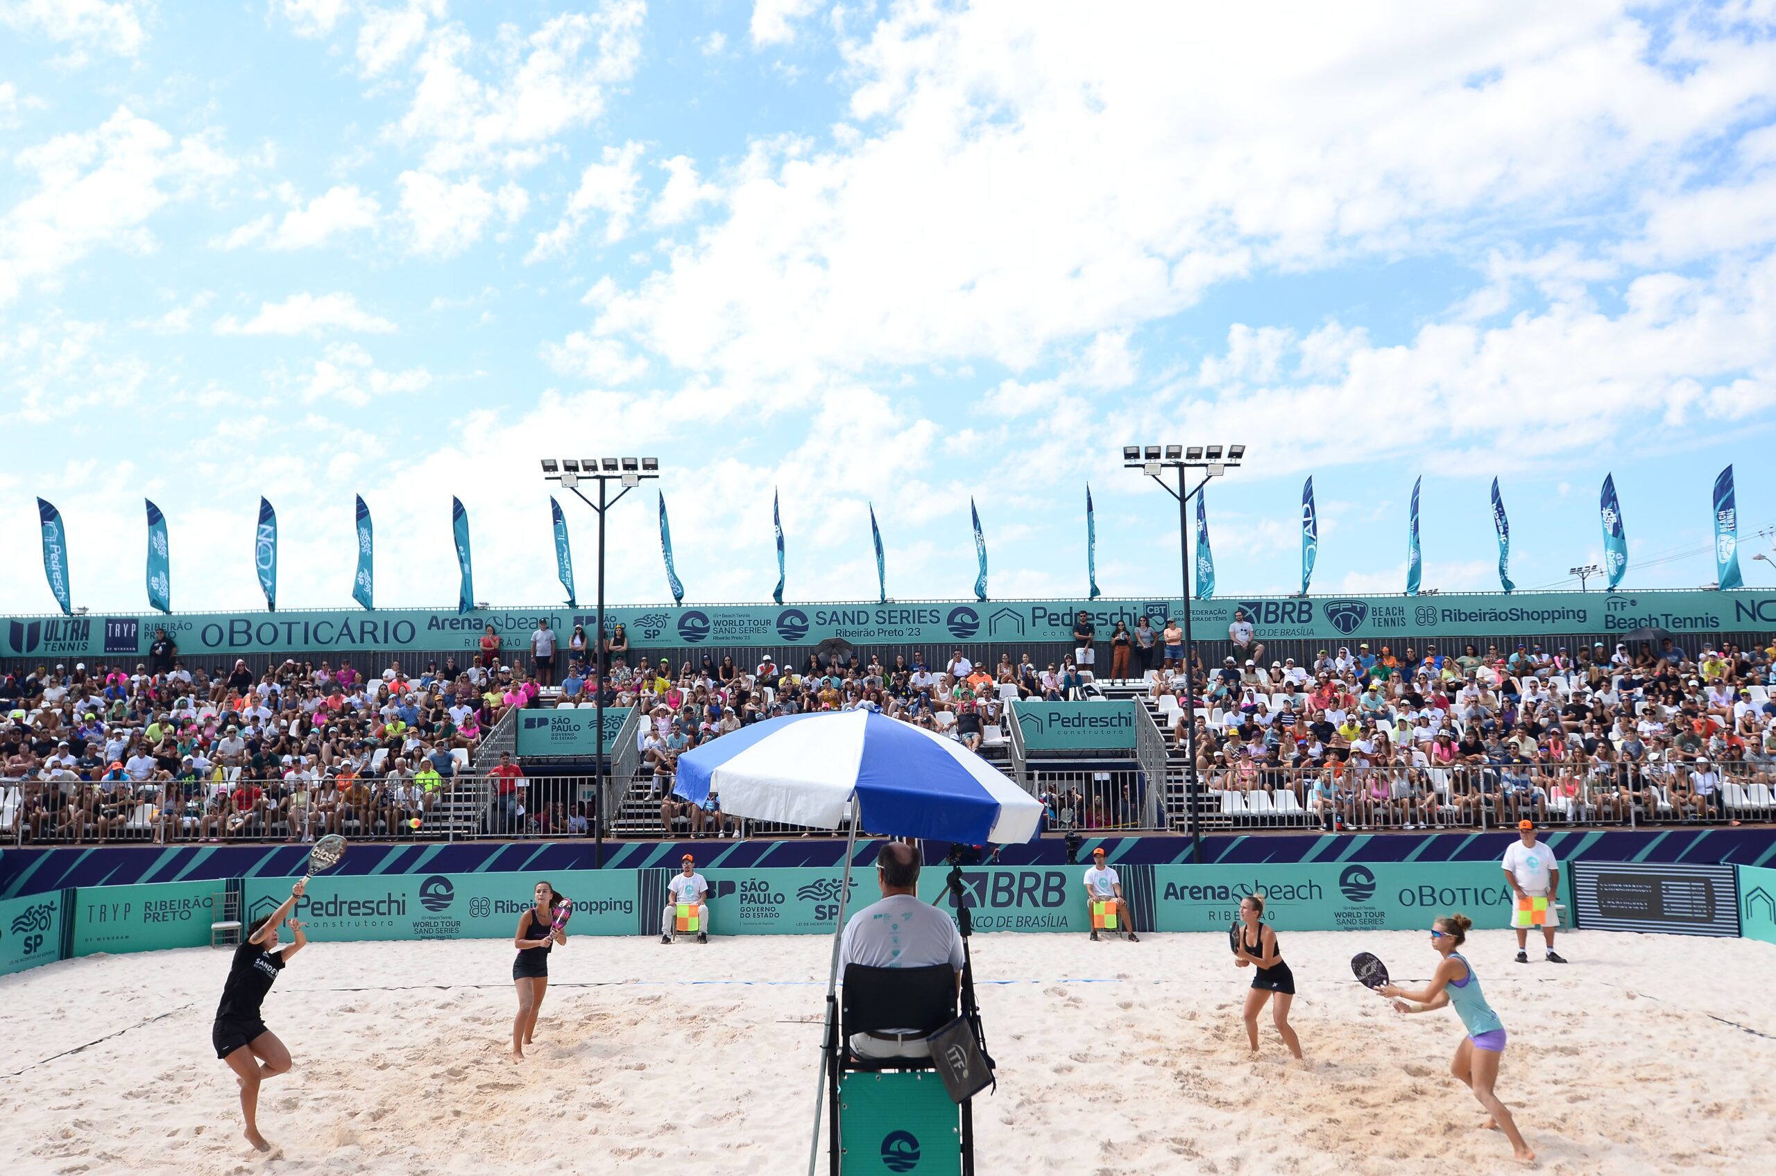
[[[496,57],[501,76],[488,82],[471,73],[469,34],[439,28],[419,55],[400,137],[428,144],[433,172],[536,163],[556,135],[597,119],[609,89],[634,76],[645,14],[641,0],[604,0],[595,12],[556,16],[522,41],[508,37]]]

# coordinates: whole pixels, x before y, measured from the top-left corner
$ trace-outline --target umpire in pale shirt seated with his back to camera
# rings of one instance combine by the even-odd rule
[[[845,920],[838,942],[838,975],[860,963],[867,968],[927,968],[947,963],[963,984],[963,936],[955,920],[938,906],[918,901],[918,846],[886,842],[876,856],[876,885],[883,897]],[[895,1032],[851,1034],[858,1057],[929,1057],[924,1039],[899,1041]]]

